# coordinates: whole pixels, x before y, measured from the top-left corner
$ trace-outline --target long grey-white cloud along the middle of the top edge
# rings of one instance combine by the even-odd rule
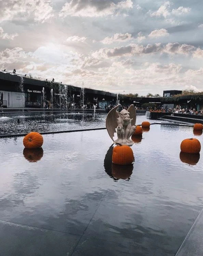
[[[71,0],[65,3],[59,16],[103,17],[133,8],[132,0],[118,2],[104,0]]]

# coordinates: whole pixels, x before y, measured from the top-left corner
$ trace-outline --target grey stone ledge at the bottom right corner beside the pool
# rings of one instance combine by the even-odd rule
[[[200,255],[203,255],[203,209],[176,253],[176,256]]]

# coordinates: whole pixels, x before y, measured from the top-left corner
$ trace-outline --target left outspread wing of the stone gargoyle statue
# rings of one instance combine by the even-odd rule
[[[118,126],[117,117],[119,117],[119,114],[116,110],[119,106],[120,104],[112,108],[106,117],[106,129],[112,141],[114,141],[113,136],[114,136],[114,133],[116,132],[116,127]]]

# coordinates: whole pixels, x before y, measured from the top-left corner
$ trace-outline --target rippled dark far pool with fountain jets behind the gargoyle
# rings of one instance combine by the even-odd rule
[[[141,124],[145,120],[147,120],[145,116],[137,115],[136,124]],[[5,113],[4,116],[0,117],[0,135],[28,133],[30,131],[42,132],[101,128],[105,127],[105,121],[106,114],[99,113],[96,113],[95,118],[94,113],[84,115],[82,113],[25,113],[24,116]],[[149,121],[153,122],[154,120],[149,119]]]

